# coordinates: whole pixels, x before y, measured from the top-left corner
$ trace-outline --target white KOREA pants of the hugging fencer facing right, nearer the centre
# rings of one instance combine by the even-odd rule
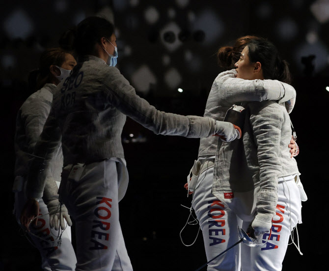
[[[207,261],[239,241],[237,227],[242,220],[212,193],[214,167],[199,175],[192,208],[202,230]],[[240,246],[236,245],[208,264],[208,271],[240,271]]]

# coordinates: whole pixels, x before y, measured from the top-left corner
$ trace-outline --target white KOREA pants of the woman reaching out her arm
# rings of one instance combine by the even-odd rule
[[[63,169],[60,198],[76,222],[76,271],[132,271],[119,224],[116,162],[84,167],[79,181]]]

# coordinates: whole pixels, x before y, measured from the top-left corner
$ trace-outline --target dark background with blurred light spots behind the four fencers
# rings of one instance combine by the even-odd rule
[[[45,48],[58,46],[65,29],[95,14],[114,22],[117,67],[137,93],[159,110],[182,115],[203,115],[221,72],[215,57],[220,46],[247,34],[274,42],[290,63],[298,93],[290,116],[308,195],[298,227],[304,255],[290,245],[283,270],[323,269],[328,255],[328,0],[12,0],[0,9],[0,270],[40,270],[38,251],[19,235],[12,215],[15,118],[31,94],[28,72],[37,68]],[[199,140],[156,136],[130,119],[122,137],[130,186],[120,203],[120,222],[134,269],[195,270],[206,262],[202,234],[185,247],[179,232],[189,214],[181,204],[190,206],[192,199],[183,185]],[[189,226],[185,241],[192,242],[196,232]]]

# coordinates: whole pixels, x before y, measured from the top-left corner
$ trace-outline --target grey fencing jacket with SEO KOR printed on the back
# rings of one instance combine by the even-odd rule
[[[136,94],[117,68],[95,56],[86,56],[57,86],[35,155],[50,161],[62,142],[64,166],[124,158],[121,132],[126,116],[163,135],[207,137],[216,128],[216,121],[210,118],[156,110]],[[39,198],[42,194],[44,181],[37,177],[41,163],[35,159],[31,166],[28,197]]]

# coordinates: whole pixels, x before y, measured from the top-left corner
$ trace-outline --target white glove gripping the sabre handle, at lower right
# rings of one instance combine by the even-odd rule
[[[273,215],[270,213],[257,213],[254,220],[247,229],[247,234],[250,237],[258,239],[263,234],[269,232],[272,227]]]

